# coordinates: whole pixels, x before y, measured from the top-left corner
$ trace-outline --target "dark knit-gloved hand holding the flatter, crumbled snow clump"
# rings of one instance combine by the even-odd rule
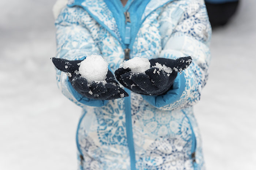
[[[161,95],[171,88],[178,72],[185,70],[191,63],[192,58],[190,56],[176,60],[157,58],[149,61],[151,68],[146,70],[145,73],[134,74],[129,68],[118,68],[115,71],[117,80],[124,87],[135,93],[142,95]],[[171,71],[170,68],[168,70],[155,67],[156,63],[170,67]]]

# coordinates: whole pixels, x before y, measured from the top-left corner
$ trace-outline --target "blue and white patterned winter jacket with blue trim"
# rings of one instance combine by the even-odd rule
[[[58,58],[99,54],[112,72],[124,61],[124,48],[131,49],[130,58],[193,58],[173,91],[142,96],[127,90],[129,97],[107,101],[79,96],[67,75],[57,70],[60,90],[83,108],[76,136],[79,169],[204,169],[192,107],[207,82],[210,63],[211,27],[204,1],[139,1],[128,0],[123,8],[120,0],[113,0],[119,9],[110,11],[109,0],[70,0],[57,17]],[[129,44],[122,39],[125,10],[131,13],[131,23],[135,17],[137,21]],[[116,22],[114,16],[121,19]]]

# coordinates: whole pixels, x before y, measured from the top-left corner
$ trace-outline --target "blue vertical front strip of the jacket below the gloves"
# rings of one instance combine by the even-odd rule
[[[125,91],[129,94],[128,97],[124,98],[124,106],[125,106],[125,126],[126,126],[126,134],[127,134],[127,143],[130,152],[131,159],[131,170],[135,170],[135,151],[133,145],[133,135],[132,135],[132,114],[131,114],[131,91],[125,88]]]

